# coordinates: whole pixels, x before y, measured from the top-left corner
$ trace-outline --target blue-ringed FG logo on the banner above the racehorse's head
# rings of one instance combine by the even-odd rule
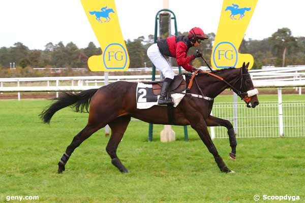
[[[213,60],[219,69],[235,67],[237,63],[237,50],[230,42],[219,43],[213,52]]]

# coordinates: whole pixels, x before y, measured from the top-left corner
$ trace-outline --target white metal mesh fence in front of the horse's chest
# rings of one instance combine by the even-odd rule
[[[243,102],[215,103],[212,114],[229,120],[237,138],[305,137],[305,101],[283,101],[282,110],[283,115],[277,101],[260,102],[255,109],[247,108]],[[225,127],[211,127],[210,132],[211,137],[228,138]]]

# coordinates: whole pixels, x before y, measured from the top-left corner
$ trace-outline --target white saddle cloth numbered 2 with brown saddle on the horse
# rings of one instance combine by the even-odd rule
[[[138,83],[136,88],[137,109],[149,109],[155,105],[158,105],[158,99],[160,97],[162,81],[151,81]],[[169,87],[171,96],[174,101],[174,107],[177,107],[185,96],[186,93],[186,81],[184,76],[175,76]],[[181,92],[181,93],[179,93]],[[162,105],[163,106],[163,105]]]

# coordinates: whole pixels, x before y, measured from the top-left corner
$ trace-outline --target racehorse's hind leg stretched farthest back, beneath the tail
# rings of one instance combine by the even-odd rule
[[[65,171],[65,165],[69,160],[73,151],[87,138],[89,138],[94,132],[104,127],[106,124],[87,124],[72,140],[71,144],[67,147],[66,153],[60,158],[58,162],[58,174]]]

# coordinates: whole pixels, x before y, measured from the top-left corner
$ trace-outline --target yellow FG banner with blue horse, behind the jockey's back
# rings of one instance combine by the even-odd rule
[[[102,55],[91,56],[91,71],[126,71],[129,55],[119,26],[114,0],[81,0],[102,49]]]

